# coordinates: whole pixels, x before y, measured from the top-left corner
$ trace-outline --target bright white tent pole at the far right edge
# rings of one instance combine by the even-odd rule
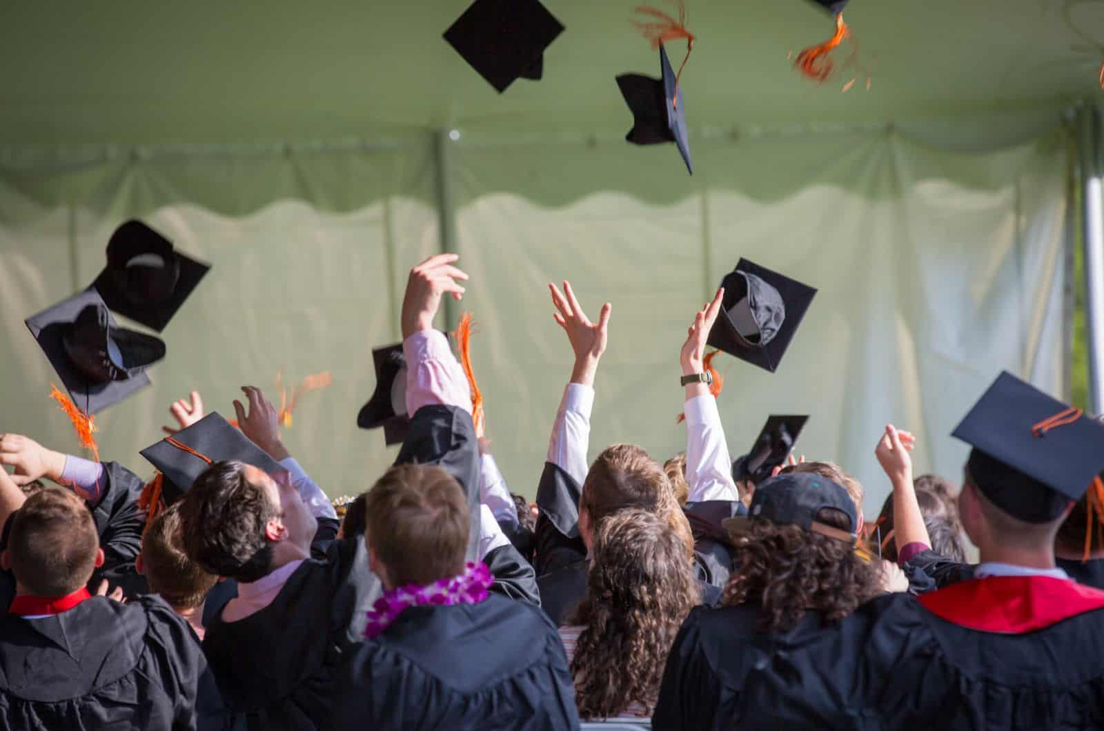
[[[1101,114],[1086,102],[1079,119],[1081,203],[1089,343],[1089,407],[1104,413],[1104,190],[1100,169]]]

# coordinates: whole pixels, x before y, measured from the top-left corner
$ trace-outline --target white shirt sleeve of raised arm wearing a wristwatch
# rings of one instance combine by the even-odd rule
[[[740,499],[732,481],[732,459],[724,442],[721,414],[711,394],[686,402],[688,502]]]

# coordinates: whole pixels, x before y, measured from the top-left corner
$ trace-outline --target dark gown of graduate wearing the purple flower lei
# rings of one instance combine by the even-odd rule
[[[577,729],[563,643],[541,611],[491,594],[481,604],[416,606],[354,648],[330,728]]]

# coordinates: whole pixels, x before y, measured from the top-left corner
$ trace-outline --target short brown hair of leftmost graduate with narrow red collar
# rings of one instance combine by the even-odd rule
[[[60,487],[34,492],[11,519],[11,571],[35,596],[65,596],[87,584],[98,548],[88,507]]]

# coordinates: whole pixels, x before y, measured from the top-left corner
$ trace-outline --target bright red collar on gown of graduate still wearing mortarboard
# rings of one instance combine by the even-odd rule
[[[988,576],[923,594],[920,603],[959,627],[1019,635],[1104,608],[1104,591],[1051,576]]]

